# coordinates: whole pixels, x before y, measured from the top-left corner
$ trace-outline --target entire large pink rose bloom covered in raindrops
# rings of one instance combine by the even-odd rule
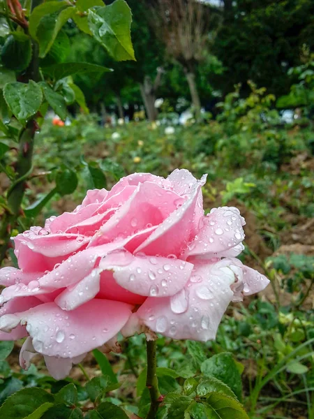
[[[91,349],[119,350],[118,332],[214,339],[230,301],[267,286],[236,258],[239,210],[204,216],[205,181],[135,173],[14,238],[20,270],[0,270],[0,340],[28,336],[23,368],[41,353],[63,378]]]

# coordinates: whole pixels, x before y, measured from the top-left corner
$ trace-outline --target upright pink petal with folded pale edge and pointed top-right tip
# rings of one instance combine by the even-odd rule
[[[200,189],[205,182],[206,175],[202,179],[197,180],[193,191],[181,207],[172,212],[136,251],[144,252],[151,256],[156,254],[160,256],[168,256],[169,254],[179,256],[190,240],[195,218],[195,205]]]

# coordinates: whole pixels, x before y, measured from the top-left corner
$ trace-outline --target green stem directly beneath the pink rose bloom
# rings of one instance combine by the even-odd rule
[[[156,352],[157,345],[155,340],[147,341],[147,380],[146,386],[151,395],[151,407],[146,419],[155,419],[160,404],[160,392],[156,375]]]

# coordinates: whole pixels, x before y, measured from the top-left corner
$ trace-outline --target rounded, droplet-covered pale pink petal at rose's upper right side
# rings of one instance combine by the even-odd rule
[[[244,224],[244,218],[237,208],[214,208],[200,219],[199,231],[188,245],[184,257],[204,256],[211,259],[237,256],[243,249],[243,245],[239,244],[245,237]]]

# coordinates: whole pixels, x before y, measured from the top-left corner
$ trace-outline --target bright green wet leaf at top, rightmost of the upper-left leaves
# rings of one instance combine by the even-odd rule
[[[89,10],[89,29],[117,61],[135,60],[130,24],[132,13],[124,0],[116,0],[109,6]]]

